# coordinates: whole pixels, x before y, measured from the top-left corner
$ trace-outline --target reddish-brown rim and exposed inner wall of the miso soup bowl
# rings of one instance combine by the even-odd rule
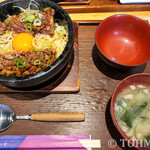
[[[150,74],[139,73],[139,74],[134,74],[134,75],[128,76],[127,78],[125,78],[118,84],[118,86],[115,88],[115,90],[112,94],[112,98],[111,98],[111,116],[112,116],[113,123],[116,126],[116,128],[118,129],[118,131],[121,133],[121,135],[126,140],[129,140],[129,137],[126,136],[126,134],[121,130],[121,128],[119,127],[119,125],[117,123],[117,120],[115,117],[114,106],[115,106],[116,98],[120,92],[122,92],[129,85],[138,85],[138,84],[150,86]]]

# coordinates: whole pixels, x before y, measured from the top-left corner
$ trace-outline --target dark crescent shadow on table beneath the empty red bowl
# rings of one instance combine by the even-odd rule
[[[115,69],[109,65],[107,65],[99,56],[99,50],[96,46],[96,44],[93,47],[92,50],[92,58],[93,58],[93,62],[95,64],[95,66],[97,67],[97,69],[102,72],[104,75],[116,79],[116,80],[122,80],[125,77],[135,74],[135,73],[142,73],[144,72],[145,68],[146,68],[146,63],[139,66],[139,67],[135,67],[132,69]]]

